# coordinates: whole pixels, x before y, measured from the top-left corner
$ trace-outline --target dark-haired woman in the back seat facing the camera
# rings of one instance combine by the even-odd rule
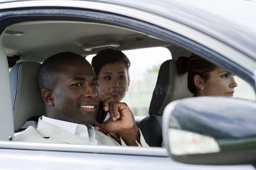
[[[130,83],[129,67],[130,61],[124,53],[119,50],[105,49],[92,58],[94,73],[99,79],[98,90],[102,100],[111,97],[114,101],[120,102]],[[109,114],[105,118],[109,118]],[[104,132],[95,126],[94,130],[100,131],[120,143],[120,138],[114,133]]]

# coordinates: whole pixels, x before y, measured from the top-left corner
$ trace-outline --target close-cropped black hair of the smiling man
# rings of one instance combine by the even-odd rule
[[[83,56],[72,52],[61,52],[46,59],[38,69],[37,84],[40,92],[43,89],[52,90],[56,85],[56,76],[63,71],[63,66],[72,60]]]

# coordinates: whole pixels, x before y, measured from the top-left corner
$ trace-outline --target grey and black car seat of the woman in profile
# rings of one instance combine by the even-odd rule
[[[187,74],[178,75],[174,59],[165,61],[158,72],[149,106],[149,116],[142,119],[138,125],[149,146],[161,147],[162,115],[165,106],[174,100],[191,96],[187,88]]]

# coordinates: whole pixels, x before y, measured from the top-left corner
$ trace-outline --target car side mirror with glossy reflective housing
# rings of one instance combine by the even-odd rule
[[[164,109],[163,142],[183,163],[255,163],[256,103],[216,96],[176,100]]]

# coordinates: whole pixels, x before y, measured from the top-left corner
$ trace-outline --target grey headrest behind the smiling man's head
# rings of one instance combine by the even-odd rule
[[[37,87],[37,62],[20,62],[10,71],[14,131],[31,117],[45,114],[44,103]]]

